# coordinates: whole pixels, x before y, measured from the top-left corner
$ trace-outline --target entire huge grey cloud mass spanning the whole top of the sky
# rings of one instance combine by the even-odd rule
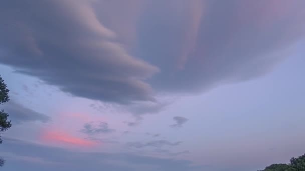
[[[76,96],[155,101],[154,92],[202,92],[267,73],[286,57],[282,49],[303,39],[304,5],[7,0],[0,3],[0,62]]]

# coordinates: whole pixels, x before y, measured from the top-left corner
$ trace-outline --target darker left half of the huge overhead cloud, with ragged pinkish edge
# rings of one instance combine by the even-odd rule
[[[80,97],[154,100],[144,80],[159,69],[129,55],[98,20],[91,1],[10,0],[0,11],[3,64]]]

